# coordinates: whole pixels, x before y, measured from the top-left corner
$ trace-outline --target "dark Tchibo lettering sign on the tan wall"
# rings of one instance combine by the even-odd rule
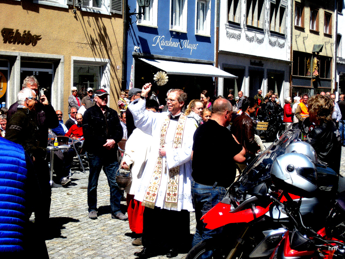
[[[36,46],[37,41],[39,41],[41,38],[41,35],[32,35],[30,31],[24,30],[23,33],[20,33],[19,30],[16,30],[14,32],[14,29],[10,28],[3,28],[1,30],[1,36],[3,43],[9,43],[9,44],[21,44],[21,45],[32,45]]]

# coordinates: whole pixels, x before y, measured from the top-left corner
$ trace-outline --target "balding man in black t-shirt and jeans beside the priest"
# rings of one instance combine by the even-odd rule
[[[193,246],[220,233],[222,228],[206,229],[200,218],[219,203],[236,176],[235,162],[245,161],[246,151],[226,128],[231,120],[232,105],[224,98],[215,100],[211,119],[194,133],[192,152],[192,198],[197,220]],[[205,144],[217,154],[217,160],[206,159]]]

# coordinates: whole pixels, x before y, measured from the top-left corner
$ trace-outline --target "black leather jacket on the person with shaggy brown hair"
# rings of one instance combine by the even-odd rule
[[[333,121],[327,121],[319,126],[306,118],[302,124],[305,141],[311,144],[317,154],[317,161],[339,174],[341,157],[341,136]]]

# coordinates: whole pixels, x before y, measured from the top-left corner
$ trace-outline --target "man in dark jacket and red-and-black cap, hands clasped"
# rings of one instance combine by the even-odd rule
[[[90,174],[88,184],[88,211],[90,219],[97,219],[97,184],[103,168],[110,187],[111,218],[127,220],[120,210],[121,191],[116,183],[117,143],[122,140],[122,127],[117,112],[107,106],[108,92],[95,91],[96,105],[88,108],[83,116],[84,144],[88,155]]]

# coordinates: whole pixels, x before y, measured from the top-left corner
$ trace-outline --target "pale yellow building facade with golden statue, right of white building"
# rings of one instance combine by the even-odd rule
[[[293,1],[291,95],[335,88],[335,1]]]

